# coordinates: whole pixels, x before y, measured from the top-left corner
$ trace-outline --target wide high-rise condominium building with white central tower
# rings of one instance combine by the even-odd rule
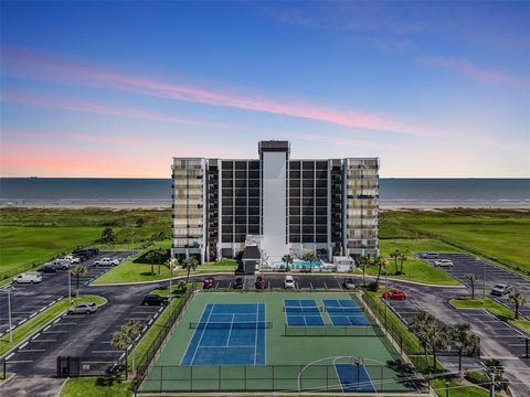
[[[262,141],[255,160],[173,159],[172,254],[214,260],[253,240],[267,260],[377,255],[379,159],[289,151],[287,141]]]

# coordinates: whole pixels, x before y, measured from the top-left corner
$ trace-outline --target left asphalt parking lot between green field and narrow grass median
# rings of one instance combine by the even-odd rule
[[[83,261],[88,273],[80,277],[80,286],[86,285],[94,278],[108,271],[108,268],[94,267],[95,260],[104,257],[113,257],[124,260],[129,257],[128,251],[106,251]],[[72,294],[75,293],[76,279],[72,278]],[[13,283],[11,287],[0,289],[0,336],[9,331],[9,310],[7,289],[11,290],[11,326],[23,324],[49,305],[68,294],[68,275],[66,270],[59,270],[56,273],[42,273],[42,282]]]

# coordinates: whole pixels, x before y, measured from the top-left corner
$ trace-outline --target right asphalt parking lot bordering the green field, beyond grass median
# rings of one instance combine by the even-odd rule
[[[508,283],[513,286],[515,290],[522,292],[530,299],[530,282],[523,277],[513,273],[509,270],[489,264],[486,260],[476,258],[468,254],[439,254],[441,259],[451,259],[453,267],[442,268],[447,273],[458,279],[465,286],[470,287],[469,280],[466,275],[474,273],[478,280],[475,281],[475,293],[477,296],[484,294],[484,280],[486,279],[486,297],[494,298],[499,302],[513,309],[513,305],[508,302],[507,297],[491,297],[491,288],[496,283]],[[431,264],[434,264],[436,259],[430,259]],[[485,278],[486,275],[486,278]],[[520,313],[530,319],[530,307],[520,308]]]

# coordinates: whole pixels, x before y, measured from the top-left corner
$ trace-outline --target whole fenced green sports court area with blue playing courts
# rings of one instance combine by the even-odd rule
[[[336,302],[358,308],[356,314],[365,318],[369,325],[350,321],[347,326],[337,325],[333,315],[339,313],[318,309]],[[310,308],[304,309],[306,305]],[[324,324],[308,321],[315,314]],[[303,316],[307,326],[287,325],[298,323],[296,316]],[[292,333],[290,329],[310,332]],[[259,348],[264,350],[263,356],[256,353]],[[359,360],[360,369],[356,364]],[[140,393],[348,393],[353,388],[367,394],[418,393],[423,384],[411,375],[362,305],[347,292],[198,292]]]

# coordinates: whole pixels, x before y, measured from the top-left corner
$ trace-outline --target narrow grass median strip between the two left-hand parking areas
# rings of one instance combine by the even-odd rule
[[[103,297],[98,296],[81,296],[80,298],[74,299],[74,304],[81,302],[94,302],[96,304],[104,304],[107,300]],[[66,309],[70,308],[70,302],[67,299],[62,299],[59,302],[55,302],[50,308],[44,310],[43,312],[35,315],[33,319],[28,320],[22,325],[17,326],[13,330],[13,342],[9,342],[9,333],[0,337],[0,356],[6,354],[9,350],[17,346],[20,342],[22,342],[28,336],[31,336],[36,330],[41,326],[53,320],[56,315],[64,312]],[[97,315],[97,314],[96,314]]]

